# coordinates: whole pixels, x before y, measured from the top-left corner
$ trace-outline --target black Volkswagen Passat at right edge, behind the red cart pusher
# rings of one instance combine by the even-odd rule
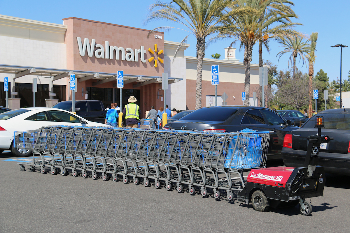
[[[329,109],[318,112],[305,122],[300,129],[288,132],[285,136],[282,159],[288,167],[302,167],[304,164],[308,140],[316,135],[316,118],[323,117],[324,128],[321,134],[334,138],[320,146],[319,165],[327,173],[350,175],[350,109]]]

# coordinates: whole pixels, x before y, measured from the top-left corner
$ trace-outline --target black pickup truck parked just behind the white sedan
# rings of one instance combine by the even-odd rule
[[[59,108],[72,112],[72,101],[61,101],[56,103],[52,108]],[[99,100],[76,100],[75,110],[78,116],[88,121],[105,123],[106,111],[102,101]]]

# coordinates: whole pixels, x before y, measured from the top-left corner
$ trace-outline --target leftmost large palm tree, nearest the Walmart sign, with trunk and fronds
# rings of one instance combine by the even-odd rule
[[[150,11],[154,11],[149,13],[145,24],[158,19],[180,23],[197,38],[196,109],[202,107],[202,70],[207,37],[222,29],[220,25],[222,20],[250,12],[247,7],[236,8],[235,2],[236,0],[172,0],[166,3],[156,0],[156,3],[150,6]],[[231,7],[231,10],[228,10],[228,7]],[[155,28],[148,35],[154,31],[164,31],[170,28],[173,27]],[[188,36],[181,41],[174,59],[181,46],[186,43]]]

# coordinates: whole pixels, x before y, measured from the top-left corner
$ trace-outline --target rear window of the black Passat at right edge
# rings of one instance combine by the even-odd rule
[[[302,128],[315,128],[318,116],[323,116],[324,128],[350,130],[350,114],[344,113],[318,113],[304,123]]]

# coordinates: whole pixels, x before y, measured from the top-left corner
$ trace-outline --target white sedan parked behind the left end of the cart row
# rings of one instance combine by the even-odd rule
[[[31,155],[32,151],[13,147],[14,132],[49,125],[106,126],[57,108],[20,108],[3,112],[0,114],[0,153],[10,149],[15,156]]]

